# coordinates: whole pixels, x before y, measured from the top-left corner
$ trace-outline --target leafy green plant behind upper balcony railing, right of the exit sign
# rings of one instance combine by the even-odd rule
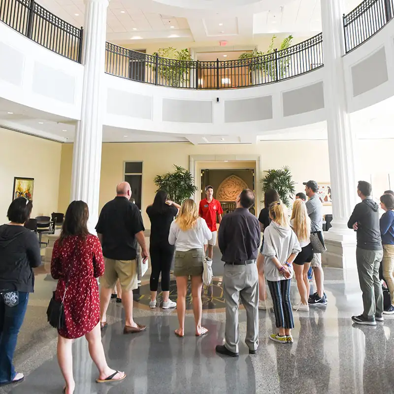
[[[246,59],[245,66],[248,66],[251,71],[263,70],[271,78],[276,78],[276,67],[278,67],[278,74],[280,78],[283,78],[289,67],[289,57],[282,56],[282,52],[279,52],[279,58],[277,57],[275,53],[276,49],[274,48],[275,38],[276,35],[273,35],[266,52],[259,51],[255,48],[253,51],[242,53],[238,59]],[[293,38],[293,35],[286,37],[281,42],[279,51],[289,48]],[[263,59],[259,59],[263,56]]]

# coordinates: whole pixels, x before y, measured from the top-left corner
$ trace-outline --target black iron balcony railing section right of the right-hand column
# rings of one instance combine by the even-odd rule
[[[379,32],[394,17],[394,0],[364,0],[343,16],[345,51],[350,52]]]

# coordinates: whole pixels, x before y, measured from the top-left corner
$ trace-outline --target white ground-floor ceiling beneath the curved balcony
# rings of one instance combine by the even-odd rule
[[[387,99],[371,107],[350,115],[351,125],[360,139],[394,138],[394,98]],[[9,113],[12,112],[12,113]],[[76,121],[38,111],[24,105],[0,99],[0,127],[53,139],[59,142],[72,142]],[[250,134],[247,125],[242,135],[171,134],[134,129],[103,127],[103,142],[186,142],[199,144],[239,144],[256,143],[265,140],[316,140],[327,139],[326,122]]]

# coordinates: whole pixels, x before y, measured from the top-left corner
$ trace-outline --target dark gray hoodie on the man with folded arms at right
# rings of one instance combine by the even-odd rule
[[[357,247],[366,250],[382,250],[379,227],[379,207],[371,198],[365,198],[354,207],[348,227],[357,222]]]

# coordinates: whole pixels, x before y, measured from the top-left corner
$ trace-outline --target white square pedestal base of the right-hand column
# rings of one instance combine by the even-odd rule
[[[356,233],[352,230],[325,231],[327,251],[322,254],[322,263],[331,268],[357,269]]]

